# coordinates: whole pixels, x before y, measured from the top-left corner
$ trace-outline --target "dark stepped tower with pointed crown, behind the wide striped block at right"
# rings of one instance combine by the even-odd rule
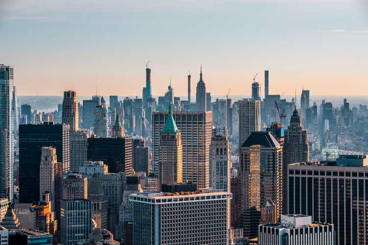
[[[298,111],[295,109],[288,129],[285,130],[284,148],[283,148],[283,200],[288,202],[287,170],[288,164],[309,161],[309,144],[307,130],[304,130]],[[283,213],[287,214],[286,206],[283,207]]]

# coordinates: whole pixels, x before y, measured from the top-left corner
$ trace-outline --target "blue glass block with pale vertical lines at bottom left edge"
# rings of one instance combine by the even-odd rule
[[[87,199],[61,201],[61,244],[88,243],[92,233],[92,202]]]

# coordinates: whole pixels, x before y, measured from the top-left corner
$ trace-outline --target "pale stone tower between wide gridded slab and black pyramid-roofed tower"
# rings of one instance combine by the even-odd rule
[[[230,192],[230,144],[225,127],[212,130],[210,188]]]

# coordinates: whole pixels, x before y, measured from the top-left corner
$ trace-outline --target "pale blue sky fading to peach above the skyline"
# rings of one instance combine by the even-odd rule
[[[0,63],[19,95],[138,95],[170,75],[176,96],[203,78],[212,95],[367,95],[367,0],[0,0]]]

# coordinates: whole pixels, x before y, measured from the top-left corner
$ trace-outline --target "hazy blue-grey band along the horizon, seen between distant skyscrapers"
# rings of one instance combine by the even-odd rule
[[[119,100],[123,100],[124,98],[136,98],[135,96],[118,96]],[[19,96],[21,104],[31,104],[32,110],[38,110],[40,112],[49,112],[54,111],[57,109],[57,105],[63,102],[62,96]],[[83,102],[84,99],[91,99],[92,96],[79,96],[78,101]],[[106,103],[109,103],[109,96],[104,96]],[[138,96],[137,98],[141,98],[141,96]],[[225,95],[211,95],[212,102],[216,100],[216,98],[219,99],[225,99]],[[249,95],[244,96],[229,96],[229,98],[232,99],[232,101],[237,101],[242,98],[250,98]],[[291,101],[293,98],[292,96],[283,96],[283,98],[286,98],[287,101]],[[342,100],[344,98],[347,98],[347,101],[350,103],[350,108],[352,107],[358,107],[359,104],[365,104],[368,105],[368,96],[313,96],[311,95],[310,99],[310,105],[313,105],[313,102],[316,102],[316,104],[319,106],[322,99],[325,99],[326,102],[332,102],[334,106],[341,106]],[[186,96],[181,97],[182,100],[186,99]],[[195,97],[191,97],[192,101],[195,101]],[[300,95],[296,98],[297,104],[300,103]],[[158,101],[158,97],[156,97],[156,101]]]

